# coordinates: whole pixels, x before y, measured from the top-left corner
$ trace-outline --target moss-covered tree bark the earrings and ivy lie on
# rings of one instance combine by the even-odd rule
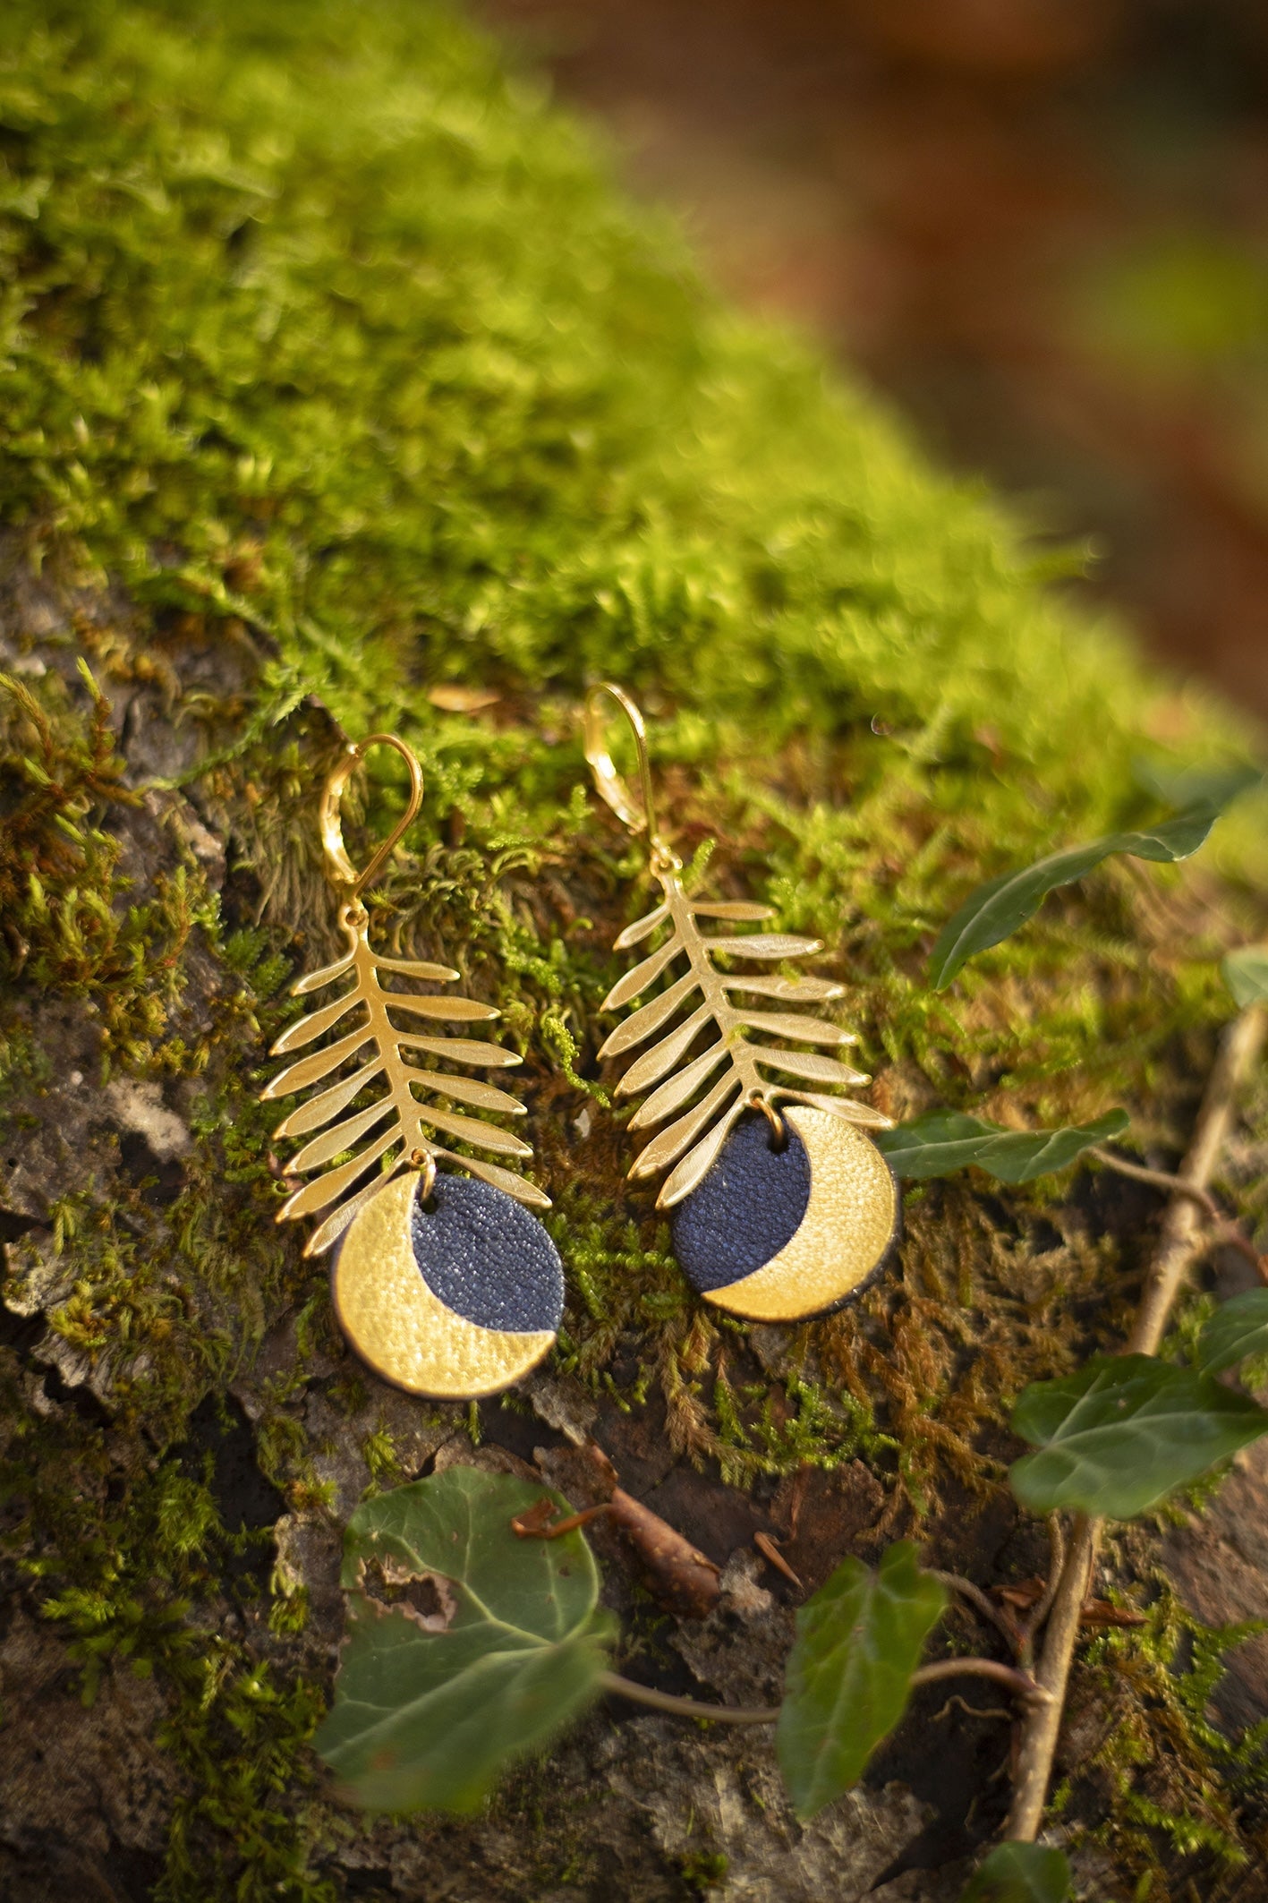
[[[1042,1574],[1006,1403],[1122,1338],[1162,1195],[933,1184],[855,1307],[707,1315],[595,1060],[646,894],[574,708],[591,674],[639,693],[679,851],[827,940],[878,1108],[1124,1104],[1150,1163],[1230,1014],[1217,953],[1264,927],[1249,820],[1219,875],[1106,868],[947,995],[924,959],[981,877],[1148,814],[1141,750],[1241,736],[810,352],[720,310],[451,15],[234,4],[194,30],[17,0],[0,36],[6,1893],[954,1897],[1008,1804],[971,1686],[920,1692],[804,1829],[760,1736],[616,1707],[487,1815],[363,1825],[306,1747],[338,1528],[452,1460],[578,1492],[593,1435],[724,1568],[707,1621],[669,1619],[597,1530],[622,1669],[736,1703],[778,1696],[797,1602],[757,1532],[806,1589],[899,1534],[981,1587]],[[272,1222],[255,1090],[287,978],[335,942],[319,786],[371,727],[428,776],[375,931],[504,1012],[568,1273],[555,1361],[477,1410],[367,1378]],[[394,797],[371,784],[373,830]],[[1264,1109],[1220,1186],[1251,1226]],[[1169,1536],[1207,1619],[1262,1589],[1222,1511]],[[1228,1640],[1152,1536],[1106,1566],[1146,1623],[1080,1652],[1063,1825],[1103,1895],[1146,1869],[1215,1895],[1266,1823],[1207,1705],[1268,1711],[1262,1658],[1213,1690]]]

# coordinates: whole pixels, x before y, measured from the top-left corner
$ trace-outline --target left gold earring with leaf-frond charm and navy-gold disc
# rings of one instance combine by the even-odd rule
[[[373,746],[390,746],[401,755],[411,790],[403,818],[365,872],[357,872],[344,847],[338,809],[354,769]],[[422,769],[392,733],[373,733],[348,746],[329,776],[321,795],[321,845],[327,879],[340,896],[346,950],[291,990],[306,995],[340,978],[352,984],[281,1033],[274,1056],[336,1031],[319,1050],[287,1064],[260,1096],[272,1100],[323,1087],[274,1132],[285,1138],[321,1130],[289,1168],[297,1176],[325,1170],[287,1199],[278,1220],[321,1214],[304,1254],[336,1250],[331,1288],[350,1345],[397,1387],[433,1399],[471,1399],[517,1382],[546,1355],[563,1315],[563,1265],[549,1235],[528,1214],[549,1208],[549,1197],[511,1170],[447,1149],[443,1142],[451,1138],[504,1157],[532,1155],[528,1144],[498,1125],[451,1108],[523,1115],[517,1098],[456,1069],[435,1068],[519,1064],[498,1045],[452,1037],[428,1022],[473,1024],[498,1012],[470,997],[380,984],[384,972],[409,984],[458,978],[447,965],[384,957],[369,944],[363,893],[388,864],[420,805]],[[359,1018],[348,1030],[354,1010]],[[395,1016],[424,1020],[424,1028],[397,1030]],[[405,1052],[432,1062],[420,1068]],[[424,1104],[414,1090],[441,1102]],[[357,1144],[354,1157],[336,1161]],[[441,1172],[437,1163],[449,1168]],[[451,1168],[468,1174],[454,1176]],[[376,1174],[363,1182],[369,1170]]]

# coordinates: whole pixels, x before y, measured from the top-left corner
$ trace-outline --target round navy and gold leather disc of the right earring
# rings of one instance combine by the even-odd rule
[[[743,1117],[673,1218],[673,1252],[705,1302],[800,1321],[857,1294],[893,1239],[890,1165],[827,1109],[781,1106],[789,1144]]]

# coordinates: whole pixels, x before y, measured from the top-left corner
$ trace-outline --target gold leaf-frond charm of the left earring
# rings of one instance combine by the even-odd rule
[[[264,1098],[295,1096],[312,1090],[340,1071],[338,1079],[319,1090],[308,1102],[291,1111],[278,1125],[276,1136],[306,1136],[321,1130],[291,1161],[289,1168],[297,1176],[312,1170],[325,1170],[314,1182],[304,1184],[289,1197],[278,1212],[279,1222],[295,1216],[312,1216],[335,1205],[321,1226],[314,1231],[304,1254],[321,1254],[338,1241],[352,1218],[384,1187],[394,1165],[405,1163],[435,1167],[437,1161],[456,1163],[471,1176],[483,1178],[494,1189],[504,1189],[517,1203],[528,1208],[549,1208],[549,1197],[534,1184],[515,1176],[511,1170],[479,1157],[460,1157],[437,1142],[435,1132],[492,1149],[504,1157],[528,1157],[532,1149],[494,1123],[464,1115],[447,1108],[449,1104],[468,1104],[473,1109],[492,1109],[523,1117],[523,1104],[506,1090],[496,1090],[489,1083],[471,1077],[456,1077],[447,1071],[418,1068],[405,1052],[420,1052],[424,1058],[439,1058],[449,1064],[464,1064],[481,1069],[509,1069],[519,1064],[511,1050],[473,1037],[451,1037],[439,1030],[399,1030],[395,1016],[424,1020],[424,1024],[473,1024],[496,1018],[490,1005],[477,1005],[470,997],[424,997],[413,991],[390,991],[380,984],[380,972],[399,978],[424,978],[437,984],[452,984],[458,976],[447,965],[426,965],[416,959],[380,957],[371,952],[367,938],[365,910],[359,917],[352,906],[344,906],[340,919],[348,934],[348,950],[323,971],[310,972],[293,988],[297,993],[321,991],[329,984],[350,976],[352,984],[329,1005],[310,1010],[274,1045],[274,1056],[300,1050],[304,1045],[323,1039],[327,1031],[338,1031],[331,1043],[308,1056],[287,1064],[262,1092]],[[355,1018],[354,1018],[355,1012]],[[352,1020],[352,1030],[344,1028]],[[355,1064],[355,1069],[346,1066]],[[375,1102],[344,1117],[348,1106],[363,1090],[375,1090]],[[441,1104],[420,1104],[414,1090],[426,1090]],[[445,1108],[441,1108],[445,1106]],[[361,1146],[359,1149],[355,1146]],[[355,1155],[329,1168],[336,1157]],[[361,1178],[378,1165],[380,1174],[373,1184],[357,1189]]]

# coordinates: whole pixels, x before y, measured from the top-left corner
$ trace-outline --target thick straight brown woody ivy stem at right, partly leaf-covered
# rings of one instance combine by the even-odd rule
[[[1224,1031],[1219,1056],[1207,1079],[1194,1136],[1188,1155],[1181,1167],[1171,1207],[1163,1218],[1162,1235],[1141,1294],[1141,1307],[1127,1340],[1125,1353],[1154,1355],[1162,1342],[1171,1307],[1179,1296],[1184,1275],[1194,1260],[1201,1235],[1201,1197],[1205,1193],[1224,1142],[1232,1128],[1234,1102],[1238,1087],[1251,1069],[1264,1041],[1264,1012],[1258,1005],[1243,1010]],[[1061,1715],[1070,1680],[1070,1663],[1078,1642],[1080,1614],[1091,1585],[1101,1532],[1105,1520],[1080,1513],[1074,1520],[1070,1545],[1066,1551],[1053,1608],[1047,1616],[1044,1637],[1044,1656],[1038,1667],[1038,1684],[1047,1694],[1046,1703],[1034,1703],[1023,1720],[1017,1745],[1017,1772],[1013,1777],[1013,1806],[1008,1814],[1004,1836],[1011,1842],[1032,1844],[1044,1821],[1047,1783],[1051,1779],[1057,1737],[1061,1734]]]

